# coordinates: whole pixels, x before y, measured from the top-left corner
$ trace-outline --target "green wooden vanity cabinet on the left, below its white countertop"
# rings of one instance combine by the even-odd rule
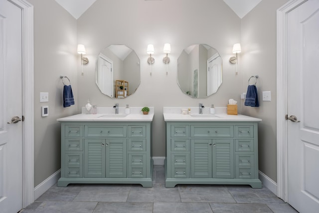
[[[61,122],[61,178],[152,187],[152,122]]]

